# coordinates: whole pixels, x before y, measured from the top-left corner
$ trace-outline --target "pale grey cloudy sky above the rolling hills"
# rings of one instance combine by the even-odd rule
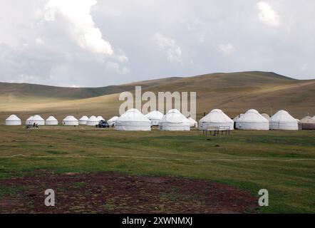
[[[315,78],[314,0],[0,1],[0,81],[107,86],[274,71]]]

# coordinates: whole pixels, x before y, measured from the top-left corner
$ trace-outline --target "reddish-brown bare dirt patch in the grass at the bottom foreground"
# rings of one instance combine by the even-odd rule
[[[46,189],[55,191],[55,207],[44,205]],[[257,197],[228,185],[117,172],[41,172],[0,180],[0,192],[1,213],[244,213],[257,208]]]

